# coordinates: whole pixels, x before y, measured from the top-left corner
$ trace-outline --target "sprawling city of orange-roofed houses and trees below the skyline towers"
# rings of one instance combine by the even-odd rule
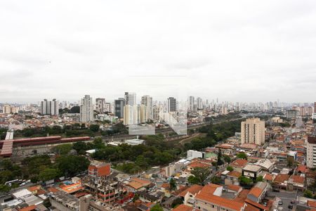
[[[137,137],[115,111],[107,115],[116,122],[83,122],[65,108],[42,114],[43,102],[14,106],[18,113],[2,106],[1,209],[313,209],[311,107],[203,102],[188,110],[186,135],[154,120],[160,133]]]

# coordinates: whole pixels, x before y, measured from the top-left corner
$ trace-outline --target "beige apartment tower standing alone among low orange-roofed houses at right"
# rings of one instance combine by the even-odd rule
[[[265,122],[251,118],[241,123],[242,143],[265,143]]]

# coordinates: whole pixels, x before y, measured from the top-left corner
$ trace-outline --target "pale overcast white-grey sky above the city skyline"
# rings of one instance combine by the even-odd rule
[[[316,1],[0,1],[0,102],[316,100]]]

